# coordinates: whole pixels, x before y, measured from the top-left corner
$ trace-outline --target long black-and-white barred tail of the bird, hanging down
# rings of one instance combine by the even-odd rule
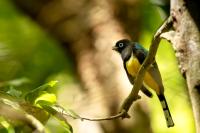
[[[164,112],[165,119],[166,119],[166,122],[167,122],[167,127],[173,127],[174,126],[174,122],[173,122],[171,113],[169,111],[169,107],[167,105],[167,101],[165,99],[164,94],[158,95],[158,98],[159,98],[160,103],[161,103],[162,108],[163,108],[163,112]]]

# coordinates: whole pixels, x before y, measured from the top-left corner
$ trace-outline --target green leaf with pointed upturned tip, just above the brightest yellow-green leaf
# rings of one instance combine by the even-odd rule
[[[25,100],[29,101],[31,103],[34,103],[34,101],[37,99],[37,97],[41,94],[42,91],[47,90],[48,88],[52,88],[56,85],[58,81],[50,81],[44,85],[39,86],[38,88],[30,91],[25,95]]]

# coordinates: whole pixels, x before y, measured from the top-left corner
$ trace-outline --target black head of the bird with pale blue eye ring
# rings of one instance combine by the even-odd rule
[[[130,43],[128,39],[122,39],[116,42],[115,46],[113,46],[113,50],[121,53]]]

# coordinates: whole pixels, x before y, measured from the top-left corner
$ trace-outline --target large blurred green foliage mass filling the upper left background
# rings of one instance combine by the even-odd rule
[[[34,88],[47,77],[73,67],[59,43],[45,34],[31,18],[20,13],[9,0],[0,1],[0,81],[26,77]]]

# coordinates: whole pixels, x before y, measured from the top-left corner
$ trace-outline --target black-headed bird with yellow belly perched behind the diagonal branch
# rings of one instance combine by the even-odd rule
[[[133,42],[128,39],[122,39],[115,43],[115,46],[112,48],[117,51],[123,60],[123,66],[128,76],[128,79],[132,85],[134,85],[135,77],[144,62],[145,58],[148,55],[148,51],[140,45],[138,42]],[[165,95],[164,95],[164,86],[162,83],[161,74],[158,68],[156,61],[154,61],[150,67],[147,69],[141,91],[148,97],[152,97],[153,94],[150,90],[151,88],[156,92],[158,99],[161,103],[164,116],[166,119],[167,127],[173,127],[174,121],[172,119]]]

